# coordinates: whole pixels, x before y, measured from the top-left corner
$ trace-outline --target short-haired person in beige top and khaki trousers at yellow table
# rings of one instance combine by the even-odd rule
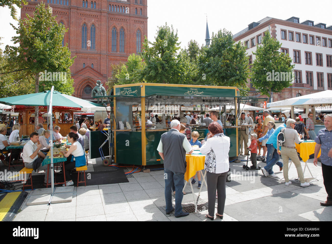
[[[279,143],[277,143],[278,154],[281,154],[281,157],[284,161],[284,178],[285,178],[285,185],[289,186],[291,182],[288,179],[288,160],[294,163],[297,171],[297,175],[300,178],[301,187],[309,186],[308,182],[304,181],[303,171],[300,163],[300,159],[297,156],[297,152],[295,149],[295,143],[298,144],[300,142],[300,138],[302,135],[298,136],[297,131],[294,129],[295,127],[295,120],[289,119],[286,122],[286,128],[281,129],[281,132],[285,135],[285,141],[282,144],[281,151],[279,150]],[[264,172],[263,172],[264,173]]]

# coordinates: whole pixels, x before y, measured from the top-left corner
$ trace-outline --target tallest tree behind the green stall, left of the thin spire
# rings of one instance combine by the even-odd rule
[[[178,58],[178,40],[178,32],[174,32],[173,26],[170,28],[167,23],[158,27],[154,42],[145,37],[141,55],[146,65],[138,78],[150,83],[182,83],[185,67],[183,59]]]

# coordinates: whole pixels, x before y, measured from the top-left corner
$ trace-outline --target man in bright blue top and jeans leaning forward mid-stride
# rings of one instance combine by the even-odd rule
[[[285,122],[282,125],[279,125],[278,128],[276,128],[272,135],[269,137],[269,139],[266,142],[267,146],[267,155],[266,155],[266,166],[262,168],[262,172],[264,176],[268,175],[275,175],[272,168],[273,165],[277,164],[280,167],[280,171],[283,170],[283,163],[280,162],[280,156],[277,152],[277,137],[279,132],[282,128],[286,128],[286,122],[288,119],[285,119]],[[274,177],[274,176],[273,176]]]

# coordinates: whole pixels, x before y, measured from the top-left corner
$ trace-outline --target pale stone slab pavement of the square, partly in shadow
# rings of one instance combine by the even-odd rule
[[[246,157],[241,156],[240,159]],[[245,161],[231,163],[231,182],[226,187],[223,221],[331,221],[332,206],[322,207],[319,204],[327,197],[321,166],[315,167],[312,161],[309,160],[308,165],[319,181],[313,181],[306,188],[295,181],[285,186],[280,180],[283,173],[277,165],[273,170],[280,178],[275,179],[264,177],[260,170],[244,170],[242,165]],[[89,162],[89,166],[90,163],[96,162]],[[248,165],[251,165],[250,161]],[[264,167],[266,164],[259,162],[258,165]],[[165,206],[163,173],[140,172],[129,175],[128,183],[74,187],[71,203],[27,206],[25,202],[14,221],[210,221],[205,217],[207,210],[182,218],[175,218],[173,214],[166,216],[160,210]],[[308,170],[304,177],[311,178]],[[297,178],[294,165],[290,168],[289,178]],[[193,188],[197,198],[197,183]],[[182,203],[193,203],[189,184],[186,192]],[[205,186],[199,200],[207,202]]]

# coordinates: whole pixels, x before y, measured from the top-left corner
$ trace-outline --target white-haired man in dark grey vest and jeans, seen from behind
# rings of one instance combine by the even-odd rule
[[[180,121],[171,121],[171,130],[163,133],[158,145],[160,157],[164,160],[166,214],[175,210],[175,217],[184,217],[188,212],[182,211],[183,185],[186,173],[186,152],[193,153],[187,137],[180,133]],[[172,206],[172,185],[175,185],[175,209]]]

